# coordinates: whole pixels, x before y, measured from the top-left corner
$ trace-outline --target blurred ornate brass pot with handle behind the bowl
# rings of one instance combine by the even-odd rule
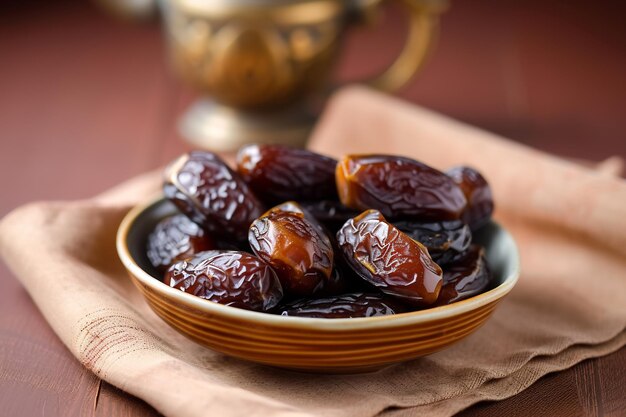
[[[394,1],[409,15],[404,49],[366,81],[385,91],[404,85],[420,67],[446,6],[445,0]],[[174,69],[206,95],[183,116],[181,133],[214,150],[248,142],[303,145],[315,118],[311,103],[331,90],[347,27],[381,2],[161,0]]]

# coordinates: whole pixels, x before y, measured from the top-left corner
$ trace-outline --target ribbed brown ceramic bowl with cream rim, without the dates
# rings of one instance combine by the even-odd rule
[[[170,288],[148,261],[150,231],[176,213],[160,199],[131,210],[117,235],[117,250],[130,278],[166,323],[226,355],[311,372],[350,373],[382,368],[444,349],[476,331],[519,276],[519,255],[496,223],[475,239],[485,245],[494,273],[491,290],[451,305],[393,316],[318,319],[284,317],[225,306]]]

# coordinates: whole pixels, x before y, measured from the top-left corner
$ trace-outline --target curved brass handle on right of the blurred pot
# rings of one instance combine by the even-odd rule
[[[382,73],[365,83],[382,91],[395,91],[406,84],[424,63],[439,26],[439,15],[447,0],[395,0],[409,12],[409,31],[396,60]],[[380,3],[380,1],[376,2]]]

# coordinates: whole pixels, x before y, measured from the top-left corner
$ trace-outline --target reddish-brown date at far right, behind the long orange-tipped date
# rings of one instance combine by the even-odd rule
[[[446,174],[461,187],[467,207],[462,219],[472,230],[478,230],[489,222],[493,213],[493,197],[487,180],[480,172],[470,167],[454,167]]]

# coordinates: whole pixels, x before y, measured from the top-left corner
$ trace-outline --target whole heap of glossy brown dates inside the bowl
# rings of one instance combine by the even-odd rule
[[[340,161],[250,145],[233,171],[194,151],[165,172],[181,214],[148,237],[164,283],[248,310],[300,317],[397,314],[490,286],[472,231],[493,211],[474,169],[442,173],[390,155]]]

